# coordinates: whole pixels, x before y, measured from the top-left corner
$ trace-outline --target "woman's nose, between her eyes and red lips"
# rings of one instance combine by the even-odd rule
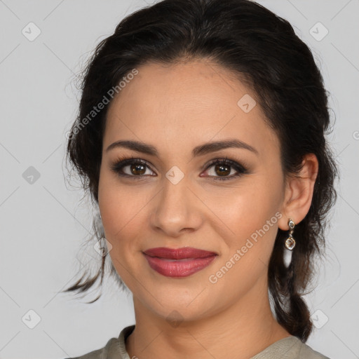
[[[168,179],[163,182],[163,189],[152,202],[151,227],[173,238],[198,230],[203,222],[203,203],[188,187],[185,178],[177,184]]]

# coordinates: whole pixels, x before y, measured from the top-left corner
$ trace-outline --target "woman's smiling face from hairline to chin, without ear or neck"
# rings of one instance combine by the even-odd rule
[[[99,184],[109,255],[157,316],[198,319],[267,294],[285,183],[278,137],[254,97],[213,62],[152,63],[109,107]],[[108,149],[118,141],[139,144]],[[187,247],[210,253],[144,254]]]

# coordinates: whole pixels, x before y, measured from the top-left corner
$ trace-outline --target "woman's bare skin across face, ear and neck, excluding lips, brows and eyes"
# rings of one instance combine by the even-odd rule
[[[214,62],[148,63],[138,70],[110,104],[99,183],[109,255],[133,293],[136,327],[127,351],[140,359],[250,358],[290,336],[271,313],[268,264],[278,227],[287,231],[289,218],[297,224],[309,211],[317,158],[308,154],[299,176],[284,175],[278,137],[259,104],[248,113],[237,105],[243,95],[255,99],[255,93]],[[233,138],[257,154],[229,148],[192,158],[199,144]],[[106,151],[118,140],[151,144],[159,157],[120,147]],[[151,168],[140,172],[142,179],[120,177],[111,170],[120,156],[141,158]],[[206,164],[226,156],[249,172],[216,180],[219,170]],[[184,174],[177,184],[165,176],[172,166]],[[123,170],[131,175],[130,168]],[[237,173],[229,169],[226,177]],[[217,283],[210,283],[209,276],[276,212],[282,217]],[[191,276],[169,278],[151,269],[142,254],[154,247],[185,246],[218,256]],[[171,325],[168,316],[179,325]]]

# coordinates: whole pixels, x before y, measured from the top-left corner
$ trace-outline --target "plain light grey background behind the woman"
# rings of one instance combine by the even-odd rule
[[[153,2],[0,0],[0,358],[82,355],[135,323],[131,296],[113,280],[95,304],[84,304],[94,290],[82,301],[59,293],[82,265],[100,263],[93,248],[81,246],[92,212],[79,185],[67,183],[65,134],[88,55],[125,15]],[[336,118],[329,137],[341,180],[327,259],[306,297],[318,327],[308,344],[331,358],[359,358],[359,1],[260,3],[290,20],[313,49]],[[33,41],[29,22],[41,30]]]

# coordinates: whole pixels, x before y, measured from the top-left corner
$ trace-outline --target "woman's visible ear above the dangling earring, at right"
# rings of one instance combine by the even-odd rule
[[[314,184],[318,175],[318,158],[315,154],[306,154],[302,161],[302,170],[297,175],[288,175],[285,183],[285,195],[278,226],[283,231],[289,229],[288,220],[295,224],[306,217],[311,207]]]

